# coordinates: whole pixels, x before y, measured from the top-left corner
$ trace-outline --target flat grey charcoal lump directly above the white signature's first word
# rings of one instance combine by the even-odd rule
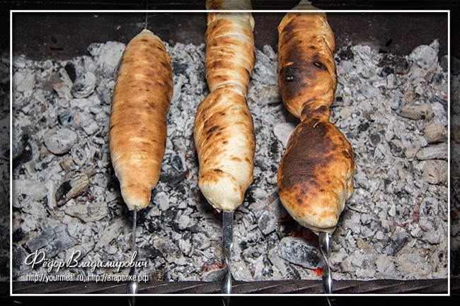
[[[66,225],[61,224],[54,228],[45,228],[42,233],[30,238],[26,245],[31,252],[40,250],[45,252],[47,258],[52,258],[76,243],[77,241],[67,232]]]

